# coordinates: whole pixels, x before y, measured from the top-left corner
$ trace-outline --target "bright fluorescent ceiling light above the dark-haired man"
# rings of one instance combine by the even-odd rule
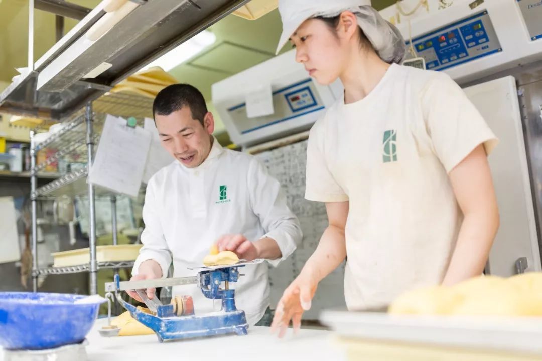
[[[180,44],[177,48],[166,52],[166,54],[160,56],[157,60],[153,61],[145,67],[145,69],[151,67],[160,67],[165,71],[169,71],[175,68],[180,63],[189,60],[203,49],[216,41],[216,35],[209,30],[203,30],[192,36],[189,40]]]

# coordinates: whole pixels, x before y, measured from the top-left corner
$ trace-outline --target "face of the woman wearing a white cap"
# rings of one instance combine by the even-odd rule
[[[339,77],[345,68],[347,54],[345,38],[320,19],[307,19],[290,37],[295,47],[295,61],[305,65],[309,76],[327,85]]]

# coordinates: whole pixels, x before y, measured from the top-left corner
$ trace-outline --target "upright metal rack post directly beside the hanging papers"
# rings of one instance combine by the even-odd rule
[[[94,155],[94,128],[93,128],[93,116],[92,116],[92,103],[87,104],[86,109],[87,119],[87,171],[91,172],[93,155]],[[89,210],[89,238],[90,238],[90,250],[91,250],[91,294],[98,293],[98,261],[96,260],[96,204],[94,199],[94,186],[92,183],[88,183],[88,205]]]

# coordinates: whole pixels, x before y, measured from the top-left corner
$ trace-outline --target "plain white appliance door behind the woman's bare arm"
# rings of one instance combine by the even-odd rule
[[[526,258],[525,272],[541,271],[515,78],[507,76],[463,90],[500,141],[489,156],[500,213],[489,270],[494,275],[513,275],[517,273],[516,262]]]

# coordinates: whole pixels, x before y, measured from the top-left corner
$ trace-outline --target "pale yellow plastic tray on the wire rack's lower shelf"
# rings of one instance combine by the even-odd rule
[[[96,259],[98,262],[133,261],[139,254],[142,245],[107,245],[96,246]],[[90,262],[91,255],[88,248],[53,253],[53,267],[69,267],[85,265]]]

